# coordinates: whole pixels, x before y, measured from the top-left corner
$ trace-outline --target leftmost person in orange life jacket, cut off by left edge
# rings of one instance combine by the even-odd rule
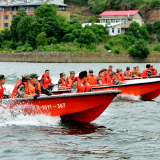
[[[1,74],[0,75],[0,100],[10,98],[10,96],[4,94],[4,91],[6,89],[3,87],[3,84],[5,84],[5,81],[6,81],[5,76]]]

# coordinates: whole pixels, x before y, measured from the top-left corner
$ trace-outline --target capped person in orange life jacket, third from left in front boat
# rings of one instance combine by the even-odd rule
[[[38,81],[38,75],[35,73],[30,74],[29,81],[29,93],[33,96],[40,96],[40,94],[53,95],[48,89],[43,88],[43,86]]]

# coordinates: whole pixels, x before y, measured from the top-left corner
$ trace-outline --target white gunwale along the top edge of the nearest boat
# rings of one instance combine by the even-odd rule
[[[108,91],[98,91],[98,92],[85,92],[85,93],[67,93],[67,94],[60,94],[60,95],[50,95],[50,96],[42,96],[38,97],[37,100],[43,99],[57,99],[57,98],[68,98],[68,97],[83,97],[83,96],[95,96],[95,95],[107,95],[107,94],[120,94],[122,91],[120,90],[108,90]],[[19,101],[30,101],[34,100],[34,98],[15,98],[15,99],[2,99],[0,103],[8,103],[8,102],[19,102]]]

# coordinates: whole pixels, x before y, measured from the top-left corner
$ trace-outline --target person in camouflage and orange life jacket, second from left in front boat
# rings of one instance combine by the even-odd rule
[[[29,92],[29,75],[24,74],[22,76],[22,79],[20,79],[11,94],[11,98],[28,98],[28,97],[34,97],[36,94],[30,94]]]

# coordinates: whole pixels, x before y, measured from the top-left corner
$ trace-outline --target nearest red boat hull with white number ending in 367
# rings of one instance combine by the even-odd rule
[[[33,98],[3,99],[0,106],[21,108],[27,114],[60,116],[62,120],[91,122],[99,117],[121,91],[60,94]]]

